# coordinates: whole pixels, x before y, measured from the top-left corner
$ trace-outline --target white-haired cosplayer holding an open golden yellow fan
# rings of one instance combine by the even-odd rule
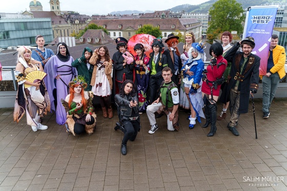
[[[15,76],[18,82],[18,91],[14,108],[14,121],[19,120],[26,112],[27,124],[32,130],[46,130],[48,126],[39,123],[40,115],[50,110],[50,99],[43,78],[47,75],[31,57],[32,51],[25,47],[17,49],[17,66]]]

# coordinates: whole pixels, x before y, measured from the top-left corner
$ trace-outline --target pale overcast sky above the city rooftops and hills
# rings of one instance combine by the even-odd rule
[[[50,0],[40,0],[43,11],[50,11]],[[138,10],[138,11],[161,11],[173,8],[178,5],[190,4],[199,5],[209,0],[59,0],[61,11],[76,11],[80,14],[92,16],[93,14],[108,14],[113,11]],[[1,1],[0,12],[17,13],[29,9],[31,0]],[[123,2],[120,3],[119,2]]]

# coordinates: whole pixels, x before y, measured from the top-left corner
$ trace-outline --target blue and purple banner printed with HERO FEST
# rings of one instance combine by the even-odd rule
[[[252,36],[255,40],[252,53],[261,58],[260,75],[265,75],[267,71],[269,46],[277,9],[278,6],[256,6],[247,11],[243,39]]]

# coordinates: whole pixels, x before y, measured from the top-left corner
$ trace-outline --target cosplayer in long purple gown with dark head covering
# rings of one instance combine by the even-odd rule
[[[68,84],[75,78],[77,71],[71,65],[74,58],[70,56],[67,45],[58,43],[57,46],[57,54],[49,59],[44,70],[48,74],[45,78],[45,83],[51,101],[51,112],[56,112],[56,122],[59,125],[63,125],[67,120],[67,113],[63,104],[61,104],[61,99],[65,100],[70,93]],[[56,94],[53,92],[55,89]],[[54,103],[55,101],[56,104]]]

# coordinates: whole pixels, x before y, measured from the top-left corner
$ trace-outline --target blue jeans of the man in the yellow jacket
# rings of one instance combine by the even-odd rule
[[[279,82],[280,82],[280,78],[277,72],[275,74],[271,74],[270,77],[263,76],[262,78],[262,90],[263,90],[262,111],[263,112],[269,112],[269,108],[274,98]]]

